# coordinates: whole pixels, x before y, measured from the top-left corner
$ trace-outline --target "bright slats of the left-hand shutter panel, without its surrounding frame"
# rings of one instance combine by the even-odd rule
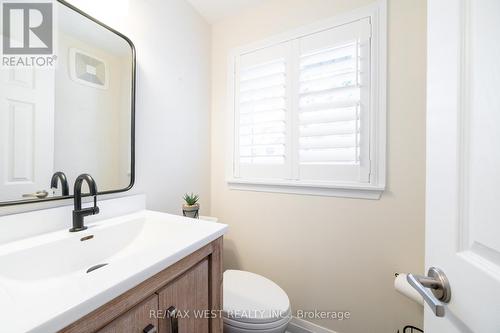
[[[241,164],[283,164],[286,144],[286,61],[242,68],[239,82]]]

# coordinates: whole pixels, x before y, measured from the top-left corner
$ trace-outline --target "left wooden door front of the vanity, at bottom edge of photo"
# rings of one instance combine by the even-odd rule
[[[158,309],[158,295],[153,295],[141,304],[113,320],[99,333],[156,333],[158,319],[151,313]]]

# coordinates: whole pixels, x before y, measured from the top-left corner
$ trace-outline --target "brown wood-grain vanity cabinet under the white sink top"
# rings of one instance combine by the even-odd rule
[[[221,251],[222,237],[60,332],[222,333]]]

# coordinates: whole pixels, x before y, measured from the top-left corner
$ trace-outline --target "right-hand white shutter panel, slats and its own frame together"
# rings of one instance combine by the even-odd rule
[[[303,37],[299,43],[299,179],[366,182],[369,20]]]

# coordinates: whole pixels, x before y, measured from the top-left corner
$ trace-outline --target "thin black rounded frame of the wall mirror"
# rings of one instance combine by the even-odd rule
[[[90,16],[89,14],[83,12],[82,10],[78,9],[77,7],[71,5],[70,3],[66,2],[65,0],[57,0],[58,3],[68,7],[69,9],[77,12],[78,14],[82,15],[83,17],[97,23],[101,27],[111,31],[115,35],[123,38],[130,46],[130,49],[132,50],[132,89],[131,89],[131,133],[130,133],[130,184],[122,189],[118,190],[109,190],[109,191],[102,191],[98,192],[97,195],[104,195],[104,194],[113,194],[113,193],[120,193],[120,192],[126,192],[129,191],[135,183],[135,85],[136,85],[136,50],[134,43],[125,36],[124,34],[116,31],[115,29],[109,27],[108,25],[102,23],[101,21],[95,19],[94,17]],[[86,195],[85,195],[86,196]],[[40,202],[50,202],[50,201],[56,201],[56,200],[66,200],[66,199],[73,199],[73,195],[67,195],[67,196],[59,196],[59,197],[53,197],[53,198],[44,198],[44,199],[27,199],[27,200],[13,200],[13,201],[3,201],[0,202],[0,207],[5,207],[5,206],[13,206],[13,205],[23,205],[23,204],[31,204],[31,203],[40,203]]]

